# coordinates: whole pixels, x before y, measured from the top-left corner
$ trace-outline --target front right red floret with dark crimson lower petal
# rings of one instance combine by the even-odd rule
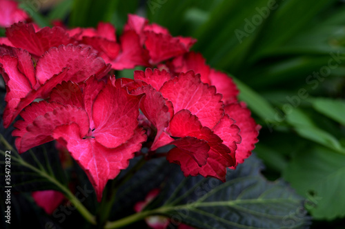
[[[200,75],[193,71],[180,73],[177,77],[166,70],[135,71],[135,81],[145,81],[148,86],[140,90],[155,90],[161,94],[160,103],[168,109],[144,112],[157,128],[157,136],[151,149],[168,144],[176,146],[168,152],[168,161],[177,163],[185,175],[203,175],[224,180],[226,168],[235,166],[235,150],[241,141],[239,128],[228,115],[224,116],[224,104],[216,88],[202,83]],[[138,89],[137,89],[138,90]],[[148,99],[148,94],[146,94]],[[156,100],[157,101],[157,100]],[[146,107],[157,108],[158,103],[147,101]],[[166,117],[169,119],[162,119]],[[155,114],[155,115],[153,115]],[[168,125],[158,126],[159,121]],[[226,123],[228,126],[226,126]],[[223,126],[226,127],[223,127]],[[221,127],[219,127],[221,126]],[[227,132],[226,141],[215,131]]]

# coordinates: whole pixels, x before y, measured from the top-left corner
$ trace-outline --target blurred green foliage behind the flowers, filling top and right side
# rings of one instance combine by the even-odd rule
[[[193,50],[235,77],[262,125],[255,151],[267,177],[283,177],[308,198],[312,227],[343,225],[344,1],[65,0],[33,18],[46,25],[69,17],[71,27],[110,21],[121,31],[128,13],[196,38]]]

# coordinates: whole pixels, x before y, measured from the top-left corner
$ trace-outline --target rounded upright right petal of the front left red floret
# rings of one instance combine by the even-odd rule
[[[121,81],[109,80],[93,104],[95,139],[103,146],[115,148],[128,141],[137,128],[139,102],[144,94],[128,94]]]

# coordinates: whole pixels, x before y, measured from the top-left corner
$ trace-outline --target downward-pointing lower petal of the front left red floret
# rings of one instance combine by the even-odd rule
[[[120,170],[127,168],[128,160],[135,156],[135,152],[141,149],[141,143],[146,141],[144,130],[137,128],[126,143],[117,148],[106,148],[95,139],[81,139],[77,123],[59,126],[53,137],[68,149],[86,172],[95,188],[98,201],[101,201],[108,179],[114,179]]]

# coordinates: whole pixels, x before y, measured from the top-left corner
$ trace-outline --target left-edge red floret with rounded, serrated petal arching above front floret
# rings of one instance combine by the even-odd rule
[[[100,79],[110,66],[91,54],[89,48],[68,45],[51,48],[39,59],[35,70],[26,50],[0,48],[0,68],[8,91],[3,116],[3,125],[8,127],[23,108],[34,99],[46,99],[52,88],[62,81],[79,83],[94,74]]]

